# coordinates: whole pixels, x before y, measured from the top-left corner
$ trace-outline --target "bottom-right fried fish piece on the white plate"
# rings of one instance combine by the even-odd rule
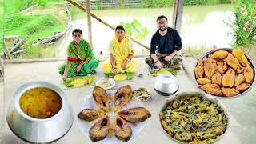
[[[131,130],[128,123],[119,115],[117,115],[117,117],[114,119],[113,132],[115,138],[118,138],[124,142],[129,141],[133,134],[133,130]]]

